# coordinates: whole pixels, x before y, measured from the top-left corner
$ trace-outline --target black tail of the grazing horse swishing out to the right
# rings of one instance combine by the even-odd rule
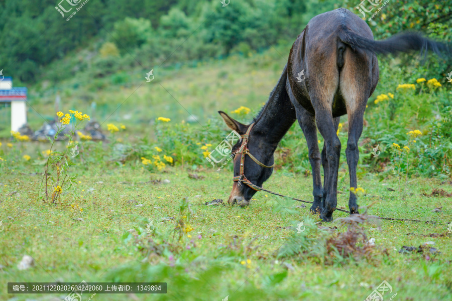
[[[383,41],[375,41],[363,38],[343,26],[339,39],[353,50],[358,48],[382,54],[420,51],[424,54],[424,58],[428,51],[433,51],[437,55],[444,53],[447,57],[452,57],[452,48],[449,45],[427,39],[415,32],[402,33]]]

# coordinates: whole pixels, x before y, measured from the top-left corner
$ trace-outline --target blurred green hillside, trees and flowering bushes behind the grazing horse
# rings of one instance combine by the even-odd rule
[[[109,154],[115,154],[115,149],[128,151],[109,159],[140,162],[143,156],[156,155],[149,147],[156,145],[174,156],[174,164],[206,166],[202,153],[228,134],[216,111],[244,105],[251,113],[232,115],[250,121],[276,84],[293,41],[312,17],[340,7],[362,17],[355,0],[245,0],[232,1],[227,7],[219,0],[90,0],[70,21],[61,18],[56,5],[49,0],[0,0],[0,69],[14,77],[15,86],[29,87],[31,127],[40,127],[42,117],[54,119],[59,91],[62,109],[86,111],[102,127],[107,118],[122,122],[134,133],[128,136],[128,147],[115,148],[113,144],[126,142],[114,140]],[[369,7],[368,2],[365,5]],[[363,19],[376,40],[420,31],[450,42],[451,5],[451,0],[393,0],[372,20],[368,18],[373,12]],[[382,177],[407,170],[449,175],[452,85],[446,76],[452,64],[431,55],[425,64],[422,59],[416,54],[379,57],[380,82],[369,99],[361,138],[362,173],[370,168],[385,171]],[[151,69],[155,80],[146,84],[144,75]],[[419,78],[435,78],[441,87],[416,83]],[[397,90],[399,84],[407,83],[415,84],[415,89]],[[388,93],[394,98],[375,102],[378,95]],[[159,116],[172,120],[160,130],[155,123]],[[0,109],[0,117],[5,121],[0,124],[0,136],[7,137],[9,112]],[[342,117],[338,133],[343,148],[346,121]],[[394,168],[400,154],[390,147],[392,143],[408,145],[406,132],[413,129],[423,134],[411,145],[412,157]],[[308,176],[302,137],[294,124],[278,148],[277,166]],[[213,146],[200,149],[199,142]],[[377,144],[382,154],[374,160],[371,152]],[[341,161],[346,171],[345,156]]]

